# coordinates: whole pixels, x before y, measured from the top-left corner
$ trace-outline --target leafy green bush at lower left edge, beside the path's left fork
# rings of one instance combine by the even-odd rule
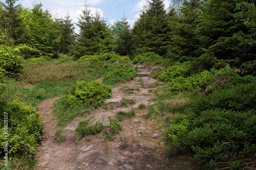
[[[17,153],[34,155],[42,131],[42,119],[36,109],[16,100],[1,107],[8,113],[8,137],[4,133],[0,134],[0,153],[4,153],[4,139],[8,138],[10,156]],[[4,112],[0,113],[1,117],[4,117]],[[3,132],[4,119],[0,120],[0,128]]]

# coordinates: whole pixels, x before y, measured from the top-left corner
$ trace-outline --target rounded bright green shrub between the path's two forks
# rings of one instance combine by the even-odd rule
[[[90,83],[77,81],[75,85],[66,91],[65,98],[72,107],[83,103],[97,107],[101,106],[104,100],[109,99],[111,96],[111,86],[93,80]]]

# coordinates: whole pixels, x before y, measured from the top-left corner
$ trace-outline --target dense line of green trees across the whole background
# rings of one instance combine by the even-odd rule
[[[58,53],[78,59],[84,55],[115,52],[135,57],[154,52],[169,61],[194,61],[198,68],[221,68],[227,64],[255,74],[255,2],[252,0],[147,1],[134,26],[125,15],[112,26],[99,12],[82,9],[74,33],[70,15],[54,18],[42,4],[33,9],[15,6],[17,0],[0,5],[1,44],[26,44],[24,58],[54,58]]]

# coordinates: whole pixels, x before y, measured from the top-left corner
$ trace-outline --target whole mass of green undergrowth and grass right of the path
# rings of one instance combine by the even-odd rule
[[[239,72],[226,66],[195,73],[189,62],[162,72],[168,86],[144,117],[165,134],[170,156],[193,154],[207,169],[255,168],[256,79]]]

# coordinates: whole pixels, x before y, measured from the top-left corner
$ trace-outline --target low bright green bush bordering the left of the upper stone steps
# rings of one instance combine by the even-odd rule
[[[118,64],[114,71],[107,72],[102,83],[114,85],[121,81],[130,81],[137,76],[135,68],[131,64]]]

